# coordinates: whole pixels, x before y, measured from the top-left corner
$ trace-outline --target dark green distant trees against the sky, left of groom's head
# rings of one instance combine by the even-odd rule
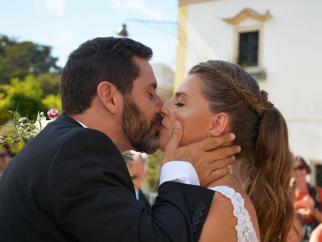
[[[50,46],[0,35],[0,84],[10,83],[11,78],[24,79],[28,74],[59,72],[57,58],[50,52]]]

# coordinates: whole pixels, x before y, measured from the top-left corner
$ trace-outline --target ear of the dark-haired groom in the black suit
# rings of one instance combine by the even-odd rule
[[[118,108],[120,108],[120,98],[122,97],[116,87],[110,82],[103,81],[97,86],[96,92],[102,105],[110,113],[116,113]]]

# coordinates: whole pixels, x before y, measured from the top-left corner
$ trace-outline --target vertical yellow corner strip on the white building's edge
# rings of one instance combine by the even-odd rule
[[[179,4],[178,14],[178,46],[174,91],[186,77],[186,45],[187,45],[188,4]]]

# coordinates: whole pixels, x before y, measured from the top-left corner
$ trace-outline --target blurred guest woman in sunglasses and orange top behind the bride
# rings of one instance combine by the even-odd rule
[[[295,209],[302,219],[303,241],[308,241],[312,230],[322,222],[321,202],[322,188],[313,187],[306,181],[311,173],[310,167],[300,156],[294,158],[294,192]],[[318,240],[322,241],[322,240]]]

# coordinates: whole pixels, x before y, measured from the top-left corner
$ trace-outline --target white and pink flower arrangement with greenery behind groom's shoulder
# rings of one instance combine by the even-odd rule
[[[22,117],[18,110],[9,111],[14,116],[14,129],[8,132],[8,137],[2,137],[3,141],[0,143],[0,148],[8,142],[12,143],[12,146],[18,150],[22,149],[29,139],[36,137],[40,131],[42,131],[47,124],[55,120],[59,113],[58,110],[51,108],[47,111],[49,119],[44,115],[44,112],[39,112],[36,120],[30,120],[28,116]],[[4,127],[4,126],[2,126]],[[8,127],[8,126],[5,126]]]

